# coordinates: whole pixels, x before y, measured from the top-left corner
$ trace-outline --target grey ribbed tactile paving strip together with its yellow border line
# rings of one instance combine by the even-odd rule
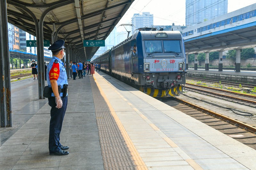
[[[148,169],[96,78],[90,80],[104,168]]]

